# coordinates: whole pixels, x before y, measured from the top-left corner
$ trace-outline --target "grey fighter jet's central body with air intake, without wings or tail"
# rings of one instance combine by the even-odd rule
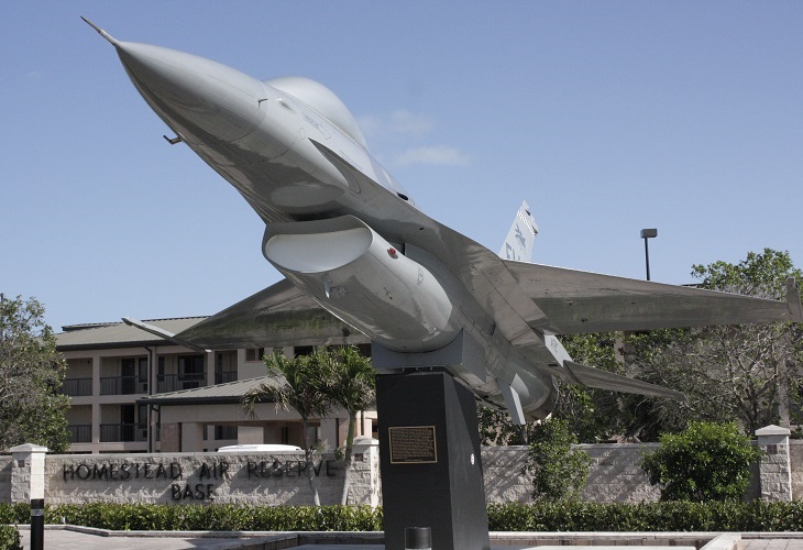
[[[395,352],[433,352],[462,333],[480,366],[444,366],[480,398],[502,407],[501,387],[513,388],[527,417],[551,411],[557,391],[547,365],[559,363],[529,329],[543,314],[526,296],[508,304],[499,294],[515,295],[517,283],[498,256],[418,210],[334,94],[101,34],[151,108],[266,222],[263,254],[299,288]],[[321,250],[329,263],[296,261]],[[542,364],[516,339],[538,343]]]

